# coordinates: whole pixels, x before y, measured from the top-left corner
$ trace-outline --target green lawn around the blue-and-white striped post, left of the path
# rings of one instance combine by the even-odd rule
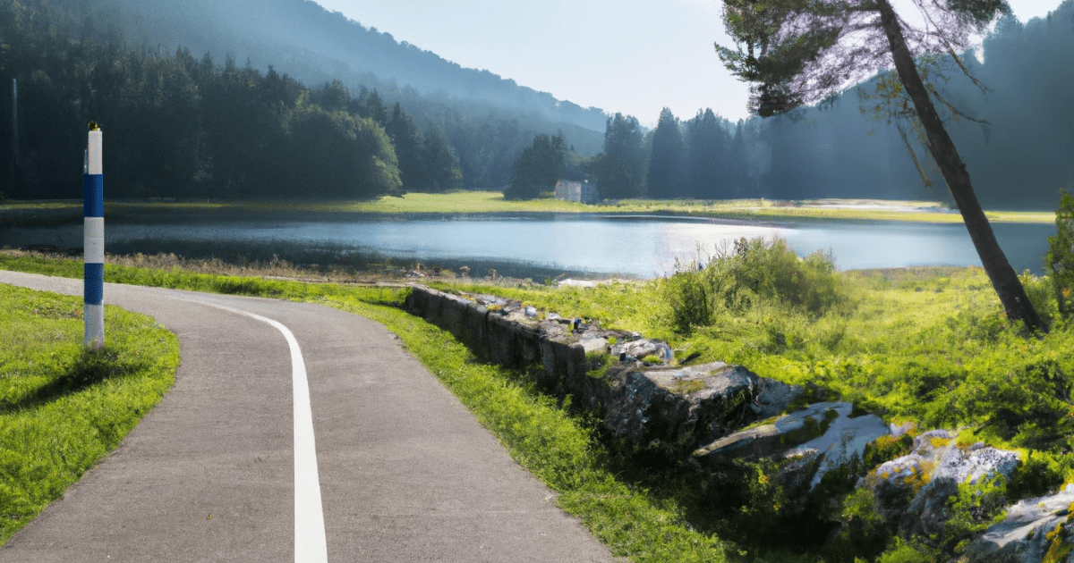
[[[171,388],[176,338],[105,308],[83,347],[82,299],[0,285],[0,545],[119,445]]]

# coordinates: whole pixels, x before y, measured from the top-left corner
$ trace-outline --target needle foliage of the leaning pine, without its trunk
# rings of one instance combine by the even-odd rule
[[[1004,0],[911,0],[925,26],[895,17],[911,54],[955,56],[998,16]],[[882,25],[887,0],[725,0],[736,47],[716,45],[724,64],[752,83],[750,110],[767,117],[815,104],[891,65]],[[924,61],[923,61],[924,62]]]

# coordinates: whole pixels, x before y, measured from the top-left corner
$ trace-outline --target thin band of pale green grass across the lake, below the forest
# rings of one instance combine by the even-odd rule
[[[357,202],[107,202],[107,216],[124,217],[144,213],[172,212],[333,212],[333,213],[669,213],[746,220],[840,220],[840,221],[913,221],[924,223],[961,223],[956,213],[935,212],[933,202],[883,202],[913,210],[875,208],[836,208],[828,201],[773,202],[769,199],[622,199],[614,204],[582,205],[558,199],[512,202],[499,192],[453,192],[445,194],[408,193],[403,197],[383,196]],[[881,202],[871,202],[881,203]],[[819,204],[819,205],[817,205]],[[78,202],[6,202],[4,209],[77,211]],[[986,213],[995,223],[1053,223],[1053,211],[1003,211]]]

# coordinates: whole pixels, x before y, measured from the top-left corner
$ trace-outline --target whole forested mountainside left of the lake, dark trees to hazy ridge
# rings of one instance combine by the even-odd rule
[[[279,3],[277,25],[291,18],[295,28],[315,29],[320,17],[326,30],[335,26],[366,43],[373,38],[395,45],[387,34],[365,30],[311,2]],[[249,28],[243,28],[249,31],[245,34],[222,27],[222,16],[214,14],[224,8],[204,4],[199,13],[198,2],[179,10],[180,4],[124,0],[0,0],[0,115],[14,115],[18,130],[12,132],[6,119],[0,124],[8,133],[0,135],[0,150],[12,157],[0,159],[0,181],[5,184],[0,192],[20,197],[76,195],[77,187],[61,178],[77,173],[84,144],[79,135],[88,119],[111,133],[106,161],[122,166],[110,167],[110,193],[116,196],[365,197],[407,190],[499,189],[537,134],[562,132],[583,154],[599,150],[599,131],[552,121],[540,104],[523,110],[442,91],[422,94],[396,86],[394,79],[355,74],[308,49],[273,43],[264,39],[273,36],[272,29],[255,32],[249,18],[236,24]],[[263,3],[249,8],[251,13],[268,12]],[[193,48],[172,47],[180,35],[193,42]],[[235,50],[213,56],[214,49],[230,47]],[[413,47],[395,49],[435,59],[464,75],[474,72]],[[230,55],[234,53],[247,57]],[[287,66],[299,72],[289,74]],[[17,112],[12,110],[13,80],[18,84]],[[509,86],[498,78],[493,83]],[[550,99],[513,88],[522,92],[514,98],[523,102],[528,94]],[[392,129],[396,104],[416,130]],[[569,103],[551,100],[546,105],[571,112]],[[580,115],[587,112],[599,114]],[[334,129],[310,130],[307,121]],[[386,135],[386,128],[412,133],[412,138]],[[302,140],[303,135],[315,136]],[[377,138],[369,140],[369,135]],[[383,140],[387,147],[380,145]],[[396,143],[409,143],[398,160],[384,150]],[[422,152],[413,150],[415,143]],[[359,159],[351,149],[365,153]],[[303,162],[295,162],[297,158]],[[377,162],[365,162],[371,158]],[[363,162],[351,162],[354,159]],[[417,159],[421,173],[415,173],[417,164],[408,159]],[[333,164],[325,166],[325,161]],[[408,166],[405,178],[397,168]],[[354,174],[363,177],[349,176]],[[393,175],[395,182],[386,180]],[[321,180],[324,183],[318,183]],[[331,187],[333,182],[347,187]]]

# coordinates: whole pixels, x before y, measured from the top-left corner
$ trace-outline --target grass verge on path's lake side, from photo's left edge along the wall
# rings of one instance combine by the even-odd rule
[[[78,278],[82,263],[0,253],[0,268]],[[729,545],[690,522],[696,506],[645,486],[638,472],[596,440],[595,426],[570,416],[534,388],[523,373],[480,364],[450,334],[395,307],[398,288],[309,284],[151,270],[108,264],[110,282],[307,300],[361,314],[400,336],[421,360],[508,448],[512,458],[557,493],[556,504],[579,518],[620,557],[636,562],[722,562]],[[640,472],[643,473],[643,472]],[[680,484],[676,484],[678,487]],[[61,489],[62,490],[62,489]]]

